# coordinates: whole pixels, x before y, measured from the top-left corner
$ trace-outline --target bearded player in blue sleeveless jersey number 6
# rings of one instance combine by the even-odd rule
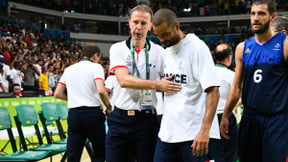
[[[236,48],[236,70],[221,121],[229,138],[229,116],[242,92],[239,160],[286,162],[288,159],[288,37],[274,32],[276,4],[256,0],[250,11],[254,36]]]

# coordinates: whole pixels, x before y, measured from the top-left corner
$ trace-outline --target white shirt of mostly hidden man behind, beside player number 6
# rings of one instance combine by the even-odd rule
[[[226,67],[216,66],[217,75],[220,79],[220,98],[217,106],[217,114],[224,112],[224,107],[227,101],[227,96],[233,82],[234,72]]]

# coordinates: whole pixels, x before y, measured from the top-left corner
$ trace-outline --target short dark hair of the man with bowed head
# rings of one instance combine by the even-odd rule
[[[177,22],[178,20],[177,20],[176,14],[167,8],[159,9],[154,14],[154,17],[152,20],[152,23],[155,26],[159,26],[163,23],[167,23],[169,27],[174,27]]]

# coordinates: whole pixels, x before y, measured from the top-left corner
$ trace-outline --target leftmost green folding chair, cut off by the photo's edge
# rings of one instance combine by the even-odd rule
[[[10,113],[5,107],[0,107],[0,130],[7,130],[13,150],[11,154],[0,156],[0,161],[38,161],[49,157],[48,151],[17,151]]]

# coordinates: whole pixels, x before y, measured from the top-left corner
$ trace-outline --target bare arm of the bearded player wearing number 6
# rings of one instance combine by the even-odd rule
[[[240,43],[236,47],[235,58],[236,58],[236,68],[234,80],[229,90],[229,94],[227,97],[227,102],[224,108],[224,113],[222,116],[221,124],[220,124],[220,132],[221,135],[229,139],[228,136],[228,127],[229,127],[229,116],[231,115],[235,105],[239,101],[242,93],[242,80],[243,80],[243,63],[242,63],[242,55],[243,55],[244,42]]]

